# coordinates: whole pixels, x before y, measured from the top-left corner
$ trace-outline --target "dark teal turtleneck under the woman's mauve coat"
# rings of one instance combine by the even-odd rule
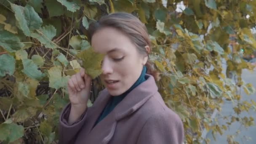
[[[117,106],[117,104],[119,104],[125,98],[125,96],[128,93],[130,93],[134,88],[136,88],[138,85],[140,85],[141,83],[146,81],[146,79],[145,79],[146,72],[147,72],[147,68],[144,66],[143,69],[142,69],[140,77],[131,86],[131,88],[129,88],[127,91],[125,91],[124,93],[122,93],[119,96],[111,96],[111,98],[109,99],[106,107],[104,108],[103,112],[101,112],[101,115],[99,116],[98,120],[96,121],[95,125],[97,123],[99,123],[101,120],[103,120],[104,117],[106,117],[110,112],[112,112],[112,110]]]

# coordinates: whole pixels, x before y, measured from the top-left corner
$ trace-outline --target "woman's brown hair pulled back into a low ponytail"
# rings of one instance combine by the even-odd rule
[[[145,48],[145,46],[148,45],[151,51],[149,34],[145,25],[136,16],[133,16],[130,13],[118,12],[101,17],[99,21],[93,22],[89,26],[88,40],[90,43],[93,34],[104,27],[113,27],[125,33],[125,35],[127,35],[134,43],[140,54],[144,56],[149,55]],[[146,67],[147,74],[152,75],[155,80],[159,80],[159,75],[154,70],[154,65],[151,61],[147,61]]]

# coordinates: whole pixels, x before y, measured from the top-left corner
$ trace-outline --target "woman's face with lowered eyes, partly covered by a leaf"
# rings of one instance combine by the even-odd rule
[[[101,80],[112,96],[127,91],[141,75],[147,56],[142,56],[129,37],[112,27],[97,31],[91,40],[96,52],[105,54]]]

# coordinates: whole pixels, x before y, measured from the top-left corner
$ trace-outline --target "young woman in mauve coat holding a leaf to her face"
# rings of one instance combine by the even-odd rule
[[[68,82],[70,103],[60,117],[59,144],[181,144],[183,124],[157,91],[146,67],[147,29],[129,13],[112,13],[89,27],[102,62],[101,91],[87,107],[91,78],[86,69]]]

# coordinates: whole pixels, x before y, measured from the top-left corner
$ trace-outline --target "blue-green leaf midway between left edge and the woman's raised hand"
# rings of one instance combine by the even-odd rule
[[[24,67],[22,72],[28,77],[35,80],[41,80],[44,77],[44,74],[38,70],[37,65],[31,59],[23,59],[22,64]]]

